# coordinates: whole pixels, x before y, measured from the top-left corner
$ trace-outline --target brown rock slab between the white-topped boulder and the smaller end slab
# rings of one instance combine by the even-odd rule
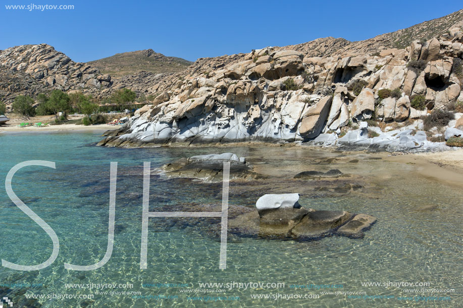
[[[291,235],[302,238],[318,238],[332,233],[337,227],[352,217],[346,211],[314,211],[308,213],[291,230]]]

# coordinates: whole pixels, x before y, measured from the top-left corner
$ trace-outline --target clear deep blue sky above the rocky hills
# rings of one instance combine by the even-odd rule
[[[74,5],[7,10],[5,5]],[[319,37],[355,41],[442,17],[459,1],[76,1],[3,0],[0,49],[47,43],[86,62],[152,48],[188,60]]]

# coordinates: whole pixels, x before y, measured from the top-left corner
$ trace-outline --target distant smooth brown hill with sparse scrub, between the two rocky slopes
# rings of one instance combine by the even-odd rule
[[[190,66],[192,62],[146,49],[117,53],[110,57],[89,61],[87,64],[113,78],[121,78],[141,71],[154,74],[180,72]]]

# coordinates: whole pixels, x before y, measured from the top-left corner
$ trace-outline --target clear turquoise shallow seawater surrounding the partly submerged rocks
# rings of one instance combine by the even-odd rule
[[[0,134],[2,182],[17,163],[26,160],[56,162],[56,169],[25,167],[13,179],[16,195],[46,221],[60,239],[58,258],[43,270],[21,272],[0,267],[0,296],[9,297],[14,306],[463,306],[463,192],[457,187],[418,177],[413,165],[370,160],[362,153],[342,154],[297,147],[95,147],[100,138],[97,132]],[[261,166],[262,172],[277,177],[232,182],[230,204],[252,206],[263,194],[300,190],[302,205],[366,213],[378,217],[378,222],[362,239],[335,236],[313,242],[234,240],[228,243],[227,269],[219,270],[220,242],[205,235],[202,227],[174,225],[169,224],[169,219],[150,218],[148,268],[140,270],[143,162],[150,161],[151,167],[156,168],[180,157],[220,152],[245,156]],[[315,165],[326,157],[342,160],[343,155],[358,158],[360,163]],[[94,271],[66,270],[64,263],[90,265],[105,255],[111,161],[118,162],[112,257],[105,266]],[[290,180],[292,175],[312,163],[315,168],[339,168],[355,175],[355,180],[363,183],[363,191],[358,194],[323,193],[316,190],[316,183],[297,186],[301,184]],[[0,257],[22,265],[44,262],[52,253],[52,240],[10,201],[4,185],[2,187]],[[153,174],[150,210],[179,204],[220,204],[221,189],[222,183],[167,179]],[[201,288],[199,285],[231,282],[284,283],[285,286],[245,288],[235,284],[230,288]],[[369,282],[389,285],[362,285]],[[397,286],[401,282],[428,283],[428,286]],[[117,286],[96,287],[108,283]],[[157,286],[158,283],[171,285]],[[318,287],[291,288],[292,284]],[[427,290],[422,292],[423,288]],[[215,290],[209,292],[210,289]],[[348,295],[322,294],[326,291],[347,292]],[[252,298],[258,295],[270,298]],[[317,295],[319,298],[314,298]],[[28,298],[31,296],[37,298]],[[38,298],[40,296],[44,298]],[[76,298],[60,298],[63,296]],[[293,298],[286,299],[288,296]],[[356,296],[389,298],[351,298]]]

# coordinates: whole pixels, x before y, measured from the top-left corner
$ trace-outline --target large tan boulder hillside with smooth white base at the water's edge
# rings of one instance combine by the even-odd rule
[[[463,32],[454,27],[462,12],[444,19],[451,28],[439,37],[402,49],[386,48],[400,39],[383,35],[370,42],[326,38],[302,44],[314,48],[266,47],[198,59],[182,74],[149,85],[146,90],[157,95],[153,104],[100,145],[311,141],[426,147],[427,136],[416,133],[422,120],[409,121],[405,132],[394,129],[463,100]],[[386,128],[374,128],[376,140],[367,136],[365,121],[371,119]]]

